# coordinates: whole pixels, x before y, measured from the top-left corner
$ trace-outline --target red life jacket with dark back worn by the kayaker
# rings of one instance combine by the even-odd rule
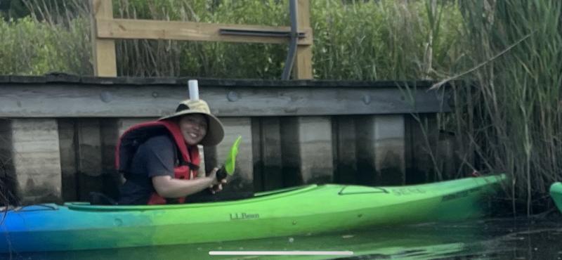
[[[122,134],[119,141],[117,141],[117,151],[115,152],[115,166],[117,171],[122,172],[125,178],[127,178],[133,156],[138,146],[147,141],[148,138],[162,134],[171,134],[174,143],[176,143],[180,150],[181,158],[178,159],[180,159],[180,162],[185,163],[174,166],[174,178],[188,180],[195,178],[201,161],[199,149],[197,145],[190,145],[188,147],[183,139],[178,124],[166,120],[136,124]],[[184,201],[184,197],[178,198],[179,203],[183,203]],[[166,199],[155,192],[150,195],[148,204],[166,204]]]

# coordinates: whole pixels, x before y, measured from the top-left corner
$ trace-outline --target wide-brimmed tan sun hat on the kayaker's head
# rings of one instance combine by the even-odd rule
[[[218,145],[223,141],[224,130],[223,124],[214,115],[211,115],[211,110],[209,110],[209,105],[204,100],[183,100],[176,108],[176,112],[171,115],[162,117],[160,120],[172,119],[176,117],[181,117],[183,115],[189,114],[202,114],[207,117],[209,126],[207,126],[207,134],[200,142],[202,145]]]

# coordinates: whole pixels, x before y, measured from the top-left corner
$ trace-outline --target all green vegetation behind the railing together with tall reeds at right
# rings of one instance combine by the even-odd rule
[[[92,74],[86,1],[29,1],[30,16],[2,12],[0,74]],[[119,18],[289,25],[279,0],[113,4]],[[455,133],[459,172],[512,174],[514,207],[520,200],[531,213],[561,176],[561,8],[558,0],[311,0],[314,76],[466,79],[452,87],[454,112],[438,120]],[[122,40],[117,67],[130,76],[279,79],[286,53],[275,44]]]

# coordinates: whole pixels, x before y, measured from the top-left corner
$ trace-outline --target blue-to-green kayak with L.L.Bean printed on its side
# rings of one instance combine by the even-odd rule
[[[6,212],[0,252],[183,245],[481,216],[503,174],[415,186],[309,185],[228,202],[37,204]]]

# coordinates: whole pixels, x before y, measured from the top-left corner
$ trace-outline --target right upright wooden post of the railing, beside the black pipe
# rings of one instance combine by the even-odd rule
[[[304,28],[311,27],[310,1],[298,0],[297,21],[299,22],[299,32]],[[308,45],[299,45],[296,48],[296,61],[294,64],[294,75],[296,79],[313,79],[312,70],[312,30],[306,34],[306,38],[311,41]]]

